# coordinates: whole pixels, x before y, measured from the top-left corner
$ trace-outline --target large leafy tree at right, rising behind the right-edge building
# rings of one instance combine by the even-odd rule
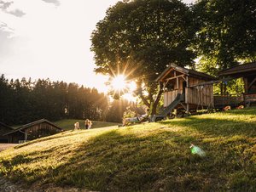
[[[256,60],[256,1],[199,0],[194,13],[197,21],[196,50],[207,71]]]

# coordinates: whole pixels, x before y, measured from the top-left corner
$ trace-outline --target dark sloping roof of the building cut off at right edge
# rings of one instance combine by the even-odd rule
[[[218,75],[219,76],[239,75],[247,72],[256,74],[256,62],[231,67],[230,69],[220,71]]]

